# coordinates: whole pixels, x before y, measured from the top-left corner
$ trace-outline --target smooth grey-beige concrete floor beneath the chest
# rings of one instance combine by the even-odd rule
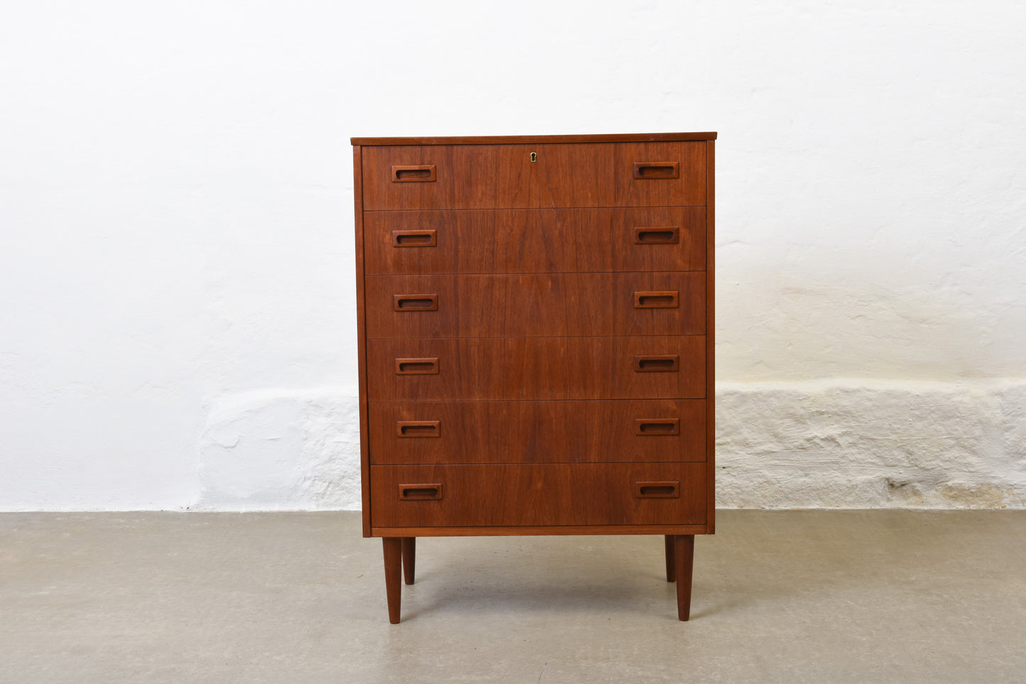
[[[389,624],[359,514],[0,515],[2,682],[1022,682],[1026,511],[724,510],[425,538]]]

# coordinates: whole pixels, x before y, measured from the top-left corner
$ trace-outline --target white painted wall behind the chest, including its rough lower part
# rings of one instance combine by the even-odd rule
[[[991,2],[0,6],[0,509],[358,507],[351,136],[718,130],[721,505],[1026,503]]]

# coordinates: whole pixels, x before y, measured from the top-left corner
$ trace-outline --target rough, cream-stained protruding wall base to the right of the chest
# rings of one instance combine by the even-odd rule
[[[721,383],[727,507],[1026,503],[1026,383]]]

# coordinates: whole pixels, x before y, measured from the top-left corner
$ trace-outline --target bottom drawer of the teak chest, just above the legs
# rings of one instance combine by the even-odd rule
[[[370,524],[701,525],[705,491],[705,463],[373,465]]]

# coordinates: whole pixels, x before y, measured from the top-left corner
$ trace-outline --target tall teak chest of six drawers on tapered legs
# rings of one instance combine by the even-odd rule
[[[713,508],[716,134],[354,138],[363,535],[654,534]]]

